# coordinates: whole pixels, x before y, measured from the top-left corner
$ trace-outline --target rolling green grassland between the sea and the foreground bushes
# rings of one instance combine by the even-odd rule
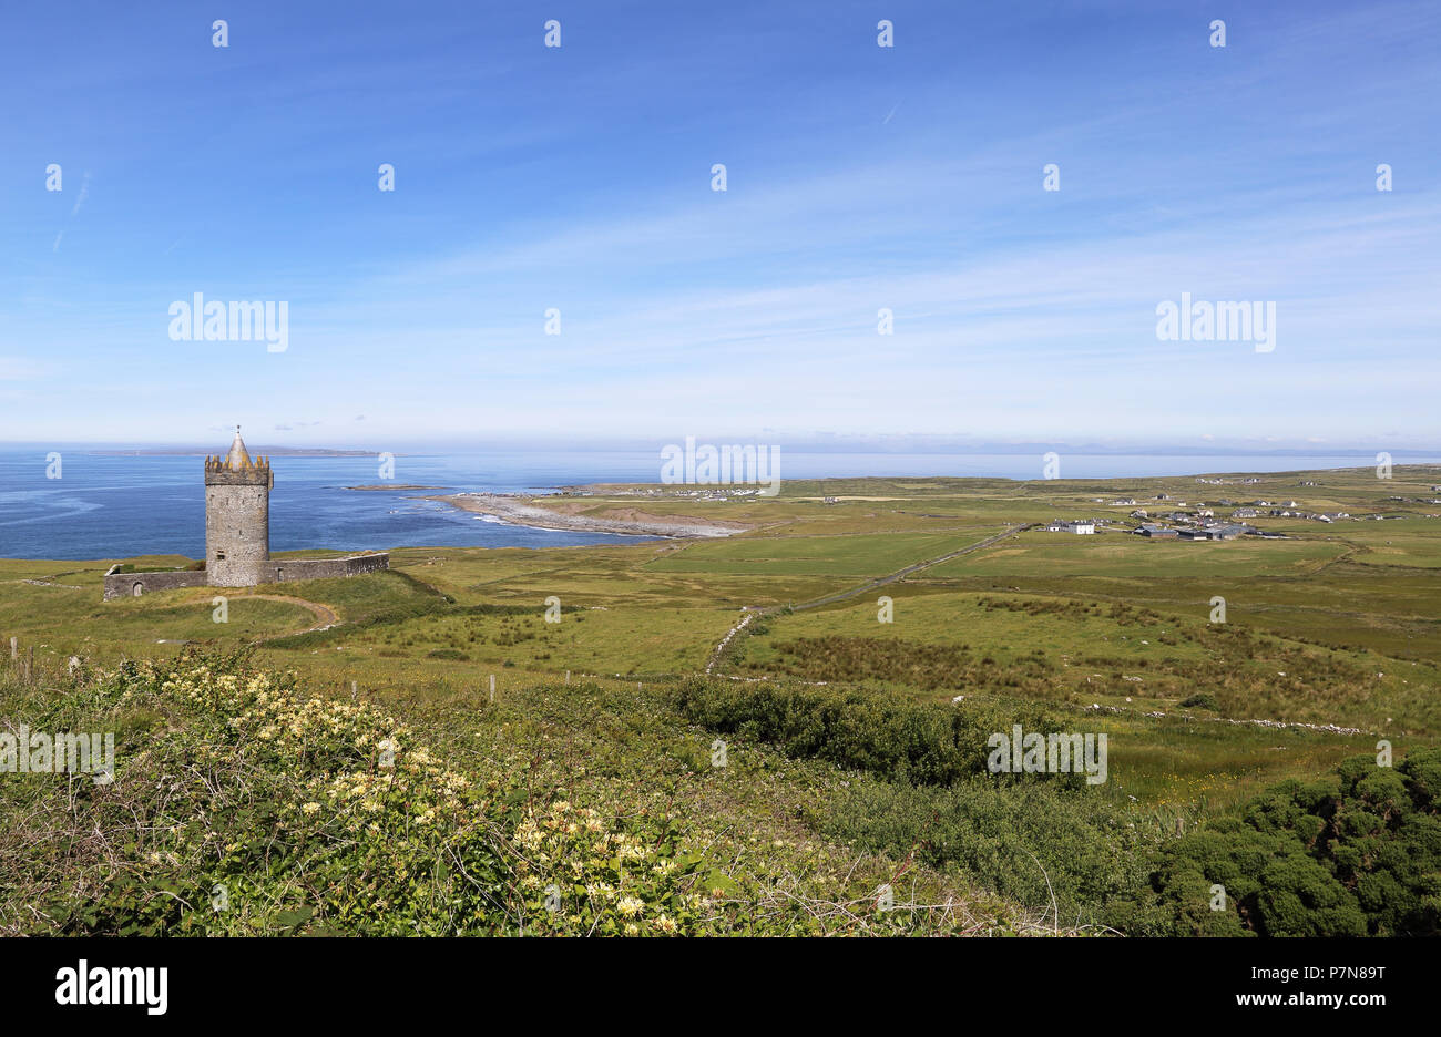
[[[1043,710],[1052,723],[1105,733],[1108,782],[1074,801],[1081,814],[1066,798],[1035,807],[1055,825],[1049,835],[1038,827],[1036,847],[1063,841],[1058,831],[1089,838],[1087,811],[1166,840],[1177,822],[1219,822],[1280,781],[1314,781],[1375,753],[1380,739],[1398,758],[1441,745],[1441,506],[1392,500],[1429,497],[1438,472],[1226,478],[1221,487],[1193,478],[827,480],[745,503],[647,498],[656,514],[751,529],[723,540],[546,550],[401,546],[391,572],[228,592],[226,622],[215,621],[210,588],[101,601],[101,575],[117,560],[189,559],[0,560],[0,645],[19,645],[4,719],[23,720],[22,703],[33,707],[26,696],[63,681],[72,657],[84,673],[102,673],[186,648],[246,647],[246,665],[414,717],[477,773],[522,753],[535,781],[576,801],[624,814],[618,805],[638,796],[689,838],[706,843],[710,832],[729,854],[726,883],[771,889],[784,871],[826,886],[856,853],[867,861],[856,874],[870,881],[906,860],[906,840],[935,853],[934,834],[918,835],[906,818],[954,814],[957,831],[971,834],[916,874],[931,894],[987,904],[994,925],[1026,929],[1045,909],[1039,887],[977,856],[983,821],[961,820],[980,809],[974,804],[922,809],[906,799],[921,792],[902,791],[909,778],[873,776],[856,762],[870,756],[846,763],[816,749],[808,759],[797,746],[810,743],[772,745],[758,720],[728,735],[744,763],[718,785],[708,746],[728,729],[715,717],[741,709],[725,704],[726,688],[850,690],[896,709],[997,717]],[[1161,494],[1170,500],[1157,503]],[[1355,518],[1261,517],[1248,521],[1287,539],[1216,543],[1040,529],[1056,517],[1125,523],[1131,507],[1114,498],[1169,511],[1177,500],[1219,497],[1294,500]],[[631,504],[617,488],[599,493],[594,510]],[[1213,621],[1216,598],[1223,622]],[[558,616],[548,616],[548,599],[559,599]],[[708,667],[716,688],[708,694],[720,704],[705,709],[723,710],[687,713],[679,690]],[[1004,795],[994,809],[1012,809]],[[769,847],[771,864],[746,856],[757,845]],[[1097,892],[1095,874],[1074,881],[1078,904],[1114,893]],[[921,930],[948,925],[929,919]]]

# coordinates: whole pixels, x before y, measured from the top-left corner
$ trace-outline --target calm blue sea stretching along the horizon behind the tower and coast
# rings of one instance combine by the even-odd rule
[[[1396,462],[1434,462],[1431,457]],[[782,454],[781,477],[971,475],[1040,477],[1038,454]],[[1065,478],[1127,478],[1195,472],[1346,468],[1359,457],[1065,455]],[[196,455],[61,451],[61,478],[48,478],[46,451],[0,448],[0,557],[114,559],[135,555],[205,557],[203,461]],[[635,537],[506,526],[421,497],[444,491],[545,493],[582,482],[657,482],[656,451],[499,451],[395,458],[395,482],[444,490],[354,491],[382,482],[365,457],[277,457],[271,550],[389,547],[555,547],[627,543]]]

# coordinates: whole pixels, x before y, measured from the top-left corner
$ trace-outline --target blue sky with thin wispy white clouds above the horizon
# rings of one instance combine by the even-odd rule
[[[6,23],[0,441],[1441,445],[1435,3]],[[195,292],[287,351],[171,341]],[[1159,341],[1182,292],[1275,350]]]

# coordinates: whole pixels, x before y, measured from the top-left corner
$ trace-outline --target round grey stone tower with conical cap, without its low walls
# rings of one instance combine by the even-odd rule
[[[265,580],[274,485],[269,461],[251,459],[239,425],[231,452],[205,459],[205,570],[210,586]]]

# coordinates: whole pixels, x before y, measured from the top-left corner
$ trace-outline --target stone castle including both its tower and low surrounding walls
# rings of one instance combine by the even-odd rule
[[[352,555],[339,559],[272,559],[269,556],[269,491],[275,487],[268,458],[251,458],[235,428],[225,457],[205,459],[205,569],[105,573],[105,601],[138,598],[153,591],[187,586],[255,586],[280,580],[357,576],[391,567],[391,556]]]

